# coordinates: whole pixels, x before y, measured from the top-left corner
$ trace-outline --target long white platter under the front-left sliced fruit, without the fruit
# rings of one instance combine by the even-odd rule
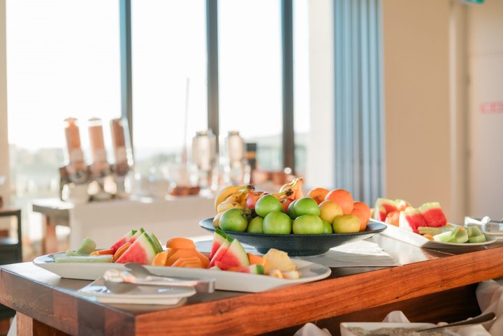
[[[61,252],[64,254],[64,252]],[[279,279],[268,275],[252,275],[240,272],[206,270],[204,268],[179,268],[167,266],[145,266],[156,275],[187,277],[196,279],[215,279],[215,288],[221,291],[240,291],[258,293],[275,288],[303,284],[325,279],[330,275],[330,268],[309,261],[293,260],[300,272],[300,279]],[[54,263],[54,254],[39,256],[34,264],[68,279],[96,280],[106,270],[112,268],[126,270],[120,263]]]

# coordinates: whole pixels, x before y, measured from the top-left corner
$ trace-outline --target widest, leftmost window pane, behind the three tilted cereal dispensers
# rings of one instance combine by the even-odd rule
[[[59,197],[66,117],[79,119],[85,149],[89,118],[101,117],[110,134],[108,121],[120,115],[118,11],[117,1],[7,1],[13,203]],[[24,232],[41,235],[30,229]]]

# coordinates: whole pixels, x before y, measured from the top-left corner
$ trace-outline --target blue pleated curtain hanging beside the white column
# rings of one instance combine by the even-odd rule
[[[335,0],[335,183],[372,205],[384,194],[381,1]]]

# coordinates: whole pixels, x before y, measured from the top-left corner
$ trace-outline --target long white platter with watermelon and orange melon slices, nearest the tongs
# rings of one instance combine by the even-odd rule
[[[131,230],[109,249],[96,249],[91,238],[75,251],[49,254],[35,265],[71,279],[95,280],[106,270],[125,269],[124,263],[139,263],[154,274],[191,278],[214,278],[215,287],[228,291],[258,292],[312,282],[330,275],[330,268],[289,258],[270,249],[263,256],[247,254],[241,243],[221,230],[214,233],[211,252],[196,249],[188,238],[170,238],[166,248],[143,228]]]

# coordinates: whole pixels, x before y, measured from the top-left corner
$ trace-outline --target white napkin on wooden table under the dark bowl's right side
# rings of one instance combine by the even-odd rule
[[[326,267],[384,267],[400,266],[379,244],[359,240],[349,244],[333,247],[326,254],[319,256],[297,257]]]

